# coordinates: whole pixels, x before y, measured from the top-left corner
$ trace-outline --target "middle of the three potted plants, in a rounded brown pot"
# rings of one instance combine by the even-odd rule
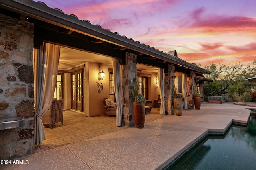
[[[176,86],[173,87],[172,91],[172,97],[173,97],[173,105],[174,105],[174,114],[176,116],[182,115],[183,110],[183,94],[182,93],[176,93],[177,88]]]

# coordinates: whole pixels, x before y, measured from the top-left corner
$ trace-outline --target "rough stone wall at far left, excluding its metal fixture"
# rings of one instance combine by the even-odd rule
[[[0,15],[0,118],[13,116],[25,126],[0,130],[0,160],[34,152],[33,25]]]

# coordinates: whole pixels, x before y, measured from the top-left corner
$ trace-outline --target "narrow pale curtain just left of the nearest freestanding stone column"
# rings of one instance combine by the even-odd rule
[[[118,59],[113,58],[113,76],[114,76],[114,90],[116,95],[116,126],[123,125],[122,108],[121,108],[121,71]]]

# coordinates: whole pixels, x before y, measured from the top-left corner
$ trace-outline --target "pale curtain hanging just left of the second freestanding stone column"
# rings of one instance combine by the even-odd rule
[[[164,70],[158,68],[158,79],[159,79],[159,93],[161,98],[161,109],[160,114],[165,115],[165,104],[164,104]]]

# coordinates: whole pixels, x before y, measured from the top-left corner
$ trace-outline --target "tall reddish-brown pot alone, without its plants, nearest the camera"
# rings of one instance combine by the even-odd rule
[[[145,123],[145,103],[133,102],[133,114],[137,128],[143,128]]]

